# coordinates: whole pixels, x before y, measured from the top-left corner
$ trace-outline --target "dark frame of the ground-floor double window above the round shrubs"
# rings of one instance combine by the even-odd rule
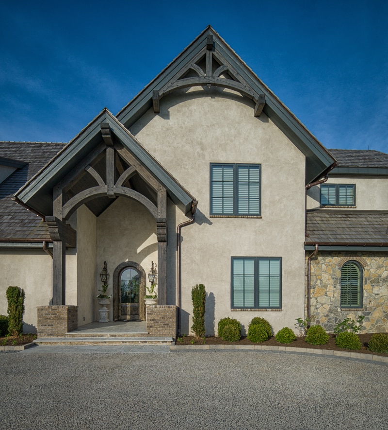
[[[233,306],[233,261],[254,260],[254,305],[250,307]],[[279,261],[279,306],[259,307],[259,260]],[[231,310],[282,310],[282,282],[283,282],[282,257],[231,257],[230,258],[230,309]]]

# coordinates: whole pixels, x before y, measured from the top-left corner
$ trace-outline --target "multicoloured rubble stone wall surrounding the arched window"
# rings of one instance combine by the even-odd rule
[[[362,308],[340,308],[341,267],[349,260],[363,269]],[[388,332],[387,253],[319,251],[311,260],[311,324],[333,332],[338,322],[357,315],[365,316],[361,333]]]

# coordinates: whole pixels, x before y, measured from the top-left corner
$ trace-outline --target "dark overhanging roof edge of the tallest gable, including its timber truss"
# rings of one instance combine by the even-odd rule
[[[206,70],[198,62],[208,56],[216,59],[220,67],[213,71],[211,66]],[[186,78],[188,72],[196,73],[191,80]],[[230,79],[221,79],[221,74]],[[208,26],[194,41],[185,48],[165,69],[156,76],[137,96],[135,96],[118,114],[117,119],[127,128],[138,120],[149,108],[157,104],[168,92],[185,86],[215,85],[234,88],[250,97],[256,108],[263,112],[291,139],[306,155],[306,183],[320,178],[335,159],[323,147],[292,112],[275,96],[275,94],[258,78],[242,61],[220,35]],[[261,102],[260,102],[261,100]]]

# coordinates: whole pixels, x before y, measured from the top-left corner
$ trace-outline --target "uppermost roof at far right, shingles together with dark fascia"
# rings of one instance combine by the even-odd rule
[[[358,174],[388,174],[388,154],[374,150],[329,149],[337,160],[331,172]]]

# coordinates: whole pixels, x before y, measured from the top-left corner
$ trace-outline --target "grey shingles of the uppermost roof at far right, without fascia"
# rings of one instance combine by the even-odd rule
[[[358,149],[328,149],[338,161],[338,167],[388,168],[388,154],[379,151]]]

